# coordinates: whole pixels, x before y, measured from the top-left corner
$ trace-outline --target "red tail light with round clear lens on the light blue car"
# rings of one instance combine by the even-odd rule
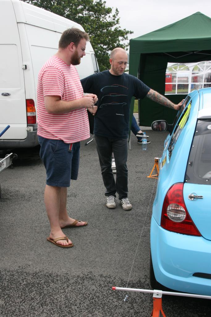
[[[174,184],[165,195],[161,227],[184,235],[201,236],[185,206],[183,185],[183,183]]]

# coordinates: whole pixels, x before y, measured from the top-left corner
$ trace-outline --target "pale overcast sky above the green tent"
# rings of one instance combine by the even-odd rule
[[[165,25],[202,12],[211,17],[211,0],[105,0],[108,7],[119,10],[120,26],[141,36]]]

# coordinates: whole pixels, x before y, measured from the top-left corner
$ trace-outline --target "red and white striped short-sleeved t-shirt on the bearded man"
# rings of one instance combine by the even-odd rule
[[[40,69],[37,84],[37,134],[47,139],[61,139],[75,143],[90,137],[89,120],[85,108],[68,113],[47,113],[44,96],[60,96],[61,100],[76,100],[83,97],[83,88],[78,72],[52,56]]]

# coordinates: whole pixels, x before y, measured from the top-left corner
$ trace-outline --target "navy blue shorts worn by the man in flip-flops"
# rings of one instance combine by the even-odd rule
[[[71,179],[78,178],[80,142],[69,144],[62,140],[46,139],[38,136],[40,158],[46,168],[46,184],[49,186],[69,187]]]

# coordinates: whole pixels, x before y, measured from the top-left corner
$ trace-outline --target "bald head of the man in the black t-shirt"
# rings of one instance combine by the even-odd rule
[[[111,64],[111,69],[109,70],[109,72],[115,76],[122,75],[127,66],[126,51],[120,47],[113,49],[110,54],[109,62]]]

